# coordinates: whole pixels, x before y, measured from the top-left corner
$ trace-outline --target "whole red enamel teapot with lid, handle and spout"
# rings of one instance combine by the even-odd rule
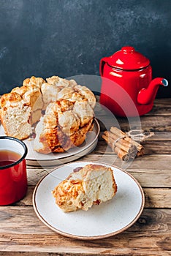
[[[100,61],[102,77],[100,103],[116,116],[142,116],[153,108],[159,85],[164,78],[152,80],[149,59],[131,46],[125,46]]]

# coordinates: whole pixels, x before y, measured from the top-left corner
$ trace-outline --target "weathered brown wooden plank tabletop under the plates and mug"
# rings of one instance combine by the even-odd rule
[[[145,208],[132,227],[116,236],[93,241],[58,235],[38,219],[32,205],[34,187],[46,170],[28,166],[26,197],[12,206],[0,207],[0,255],[171,255],[170,102],[171,99],[156,99],[153,110],[140,117],[142,129],[153,131],[154,135],[143,143],[145,155],[126,167],[145,193]],[[99,106],[96,117],[102,130],[104,126],[113,126],[113,118],[107,118]],[[126,118],[115,121],[125,131],[130,129],[130,124],[136,127],[134,118],[129,122]],[[114,162],[124,167],[101,136],[95,150],[81,160]]]

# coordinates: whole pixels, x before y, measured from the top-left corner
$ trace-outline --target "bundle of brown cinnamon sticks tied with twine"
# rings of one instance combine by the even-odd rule
[[[102,138],[123,161],[130,161],[144,154],[143,146],[117,127],[111,127],[110,131],[105,131]]]

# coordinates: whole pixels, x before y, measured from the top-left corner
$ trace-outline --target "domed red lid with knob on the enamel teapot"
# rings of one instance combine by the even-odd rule
[[[124,46],[107,59],[107,64],[118,69],[142,69],[150,64],[149,59],[134,50],[132,46]]]

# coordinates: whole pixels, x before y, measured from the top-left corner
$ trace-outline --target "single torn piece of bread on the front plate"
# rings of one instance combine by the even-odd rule
[[[53,190],[56,204],[64,211],[85,211],[110,200],[117,192],[113,170],[103,165],[78,167]]]

